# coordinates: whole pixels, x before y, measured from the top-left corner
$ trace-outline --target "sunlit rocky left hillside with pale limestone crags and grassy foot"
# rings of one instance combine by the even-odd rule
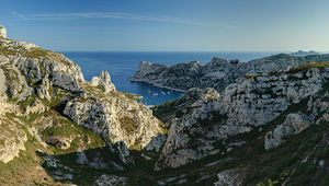
[[[3,184],[103,183],[166,140],[139,96],[116,91],[107,72],[86,81],[59,53],[0,37],[0,80]]]

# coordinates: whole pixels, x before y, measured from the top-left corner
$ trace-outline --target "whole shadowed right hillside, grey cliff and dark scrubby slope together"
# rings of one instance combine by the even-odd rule
[[[328,80],[329,62],[310,62],[155,107],[170,126],[157,170],[208,162],[198,177],[219,172],[219,185],[328,184]]]

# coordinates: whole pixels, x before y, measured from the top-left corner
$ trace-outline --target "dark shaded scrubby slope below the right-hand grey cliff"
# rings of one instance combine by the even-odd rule
[[[290,105],[270,123],[229,138],[219,147],[225,153],[160,170],[155,177],[168,185],[328,185],[328,91],[327,82],[317,94]],[[285,142],[276,148],[265,150],[266,133],[287,124],[291,115],[296,114],[310,120],[314,117],[314,123],[286,136]]]

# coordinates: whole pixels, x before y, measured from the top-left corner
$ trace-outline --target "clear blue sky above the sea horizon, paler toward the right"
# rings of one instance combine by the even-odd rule
[[[329,51],[328,0],[0,0],[8,37],[59,51]]]

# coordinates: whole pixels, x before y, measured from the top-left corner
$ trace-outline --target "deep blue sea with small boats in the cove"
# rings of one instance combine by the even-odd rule
[[[132,77],[138,69],[140,61],[152,63],[177,65],[189,61],[200,61],[205,65],[213,57],[225,59],[239,59],[249,61],[273,54],[266,53],[215,53],[215,51],[63,51],[65,56],[81,67],[86,80],[98,77],[102,70],[110,72],[111,80],[117,91],[125,91],[143,96],[140,100],[145,105],[159,105],[178,98],[183,93],[162,88],[156,88],[144,82],[131,82]]]

